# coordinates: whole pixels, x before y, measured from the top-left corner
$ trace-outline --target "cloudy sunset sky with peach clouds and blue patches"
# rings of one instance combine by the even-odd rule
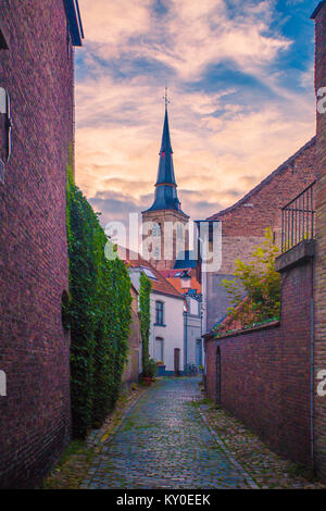
[[[76,182],[101,223],[152,204],[168,87],[183,210],[231,205],[315,133],[313,0],[79,0]]]

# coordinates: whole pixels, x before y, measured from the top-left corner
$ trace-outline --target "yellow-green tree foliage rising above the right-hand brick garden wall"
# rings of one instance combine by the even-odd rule
[[[233,304],[228,315],[240,321],[242,327],[279,316],[280,275],[275,270],[277,254],[272,228],[266,228],[265,239],[262,246],[253,250],[252,260],[243,263],[237,259],[236,278],[222,282]]]

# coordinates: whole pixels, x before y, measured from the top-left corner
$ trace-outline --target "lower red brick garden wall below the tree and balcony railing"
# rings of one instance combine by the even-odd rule
[[[310,458],[310,331],[312,263],[281,276],[281,320],[218,340],[222,406],[274,450]],[[208,394],[216,397],[216,340],[206,342]]]

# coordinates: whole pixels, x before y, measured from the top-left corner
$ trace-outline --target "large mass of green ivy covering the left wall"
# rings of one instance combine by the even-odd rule
[[[108,238],[98,215],[67,169],[67,242],[73,434],[99,427],[118,396],[131,321],[130,278],[117,258],[108,261]]]

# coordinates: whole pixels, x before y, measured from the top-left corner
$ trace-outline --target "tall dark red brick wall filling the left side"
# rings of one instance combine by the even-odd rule
[[[1,2],[0,86],[12,158],[0,184],[0,486],[37,484],[70,438],[65,180],[73,142],[73,51],[63,0]]]

